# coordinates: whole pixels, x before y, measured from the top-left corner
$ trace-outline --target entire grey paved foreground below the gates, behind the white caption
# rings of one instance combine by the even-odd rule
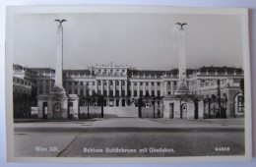
[[[243,155],[245,150],[241,118],[31,121],[19,120],[14,124],[17,157],[216,156]],[[115,152],[122,148],[135,152]],[[171,151],[151,151],[155,148]],[[226,150],[219,151],[221,148]]]

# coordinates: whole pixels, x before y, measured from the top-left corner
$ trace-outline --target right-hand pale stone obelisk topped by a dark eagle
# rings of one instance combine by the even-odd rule
[[[183,26],[187,24],[177,23],[179,25],[178,38],[179,38],[179,80],[178,87],[175,91],[175,94],[187,94],[189,89],[187,86],[187,74],[186,74],[186,48],[185,48],[185,30]]]

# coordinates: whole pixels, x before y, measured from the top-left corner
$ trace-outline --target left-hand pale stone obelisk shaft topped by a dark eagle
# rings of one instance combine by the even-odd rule
[[[55,64],[55,83],[54,88],[64,90],[62,84],[62,70],[63,70],[63,26],[62,22],[66,20],[56,20],[60,23],[57,29],[57,52],[56,52],[56,64]]]

